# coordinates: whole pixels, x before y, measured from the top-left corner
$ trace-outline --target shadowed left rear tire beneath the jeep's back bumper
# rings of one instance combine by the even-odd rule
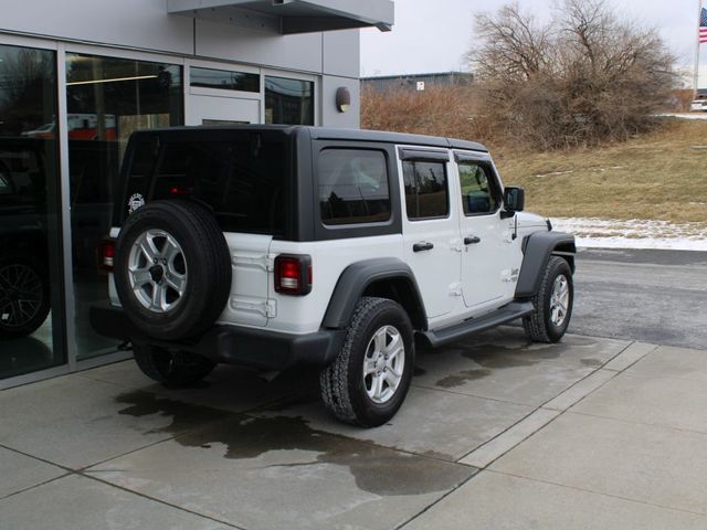
[[[145,375],[168,389],[190,386],[211,373],[214,362],[187,351],[169,351],[151,344],[133,344],[133,356]]]

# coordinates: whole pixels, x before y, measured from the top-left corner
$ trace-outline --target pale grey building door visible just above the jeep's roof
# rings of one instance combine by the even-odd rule
[[[261,103],[241,97],[189,96],[188,125],[261,123]]]

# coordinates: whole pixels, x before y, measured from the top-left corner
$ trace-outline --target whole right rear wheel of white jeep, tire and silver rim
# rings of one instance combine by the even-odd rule
[[[361,298],[339,356],[319,375],[324,404],[342,422],[381,425],[402,405],[413,362],[413,330],[405,310],[387,298]]]

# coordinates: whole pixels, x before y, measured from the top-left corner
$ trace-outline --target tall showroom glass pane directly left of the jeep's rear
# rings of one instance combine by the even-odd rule
[[[178,65],[66,54],[66,129],[77,358],[115,351],[91,329],[88,308],[108,297],[96,248],[110,229],[120,160],[138,129],[183,125]]]

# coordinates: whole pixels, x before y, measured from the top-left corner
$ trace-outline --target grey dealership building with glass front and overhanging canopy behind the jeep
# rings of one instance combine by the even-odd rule
[[[40,15],[41,13],[41,15]],[[389,0],[34,0],[0,18],[0,388],[129,356],[95,335],[137,129],[359,125],[358,28]],[[337,91],[350,94],[339,112]]]

